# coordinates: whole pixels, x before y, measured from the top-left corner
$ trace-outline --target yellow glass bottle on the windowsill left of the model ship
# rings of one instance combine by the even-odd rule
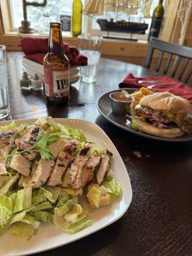
[[[74,0],[72,4],[72,35],[81,35],[83,4],[81,0]]]

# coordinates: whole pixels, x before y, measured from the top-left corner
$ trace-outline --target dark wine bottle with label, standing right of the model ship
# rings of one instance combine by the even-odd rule
[[[154,9],[154,12],[152,15],[152,22],[151,22],[150,31],[148,34],[148,41],[152,36],[154,37],[159,36],[161,24],[163,21],[163,15],[164,15],[163,0],[159,0],[159,3]]]

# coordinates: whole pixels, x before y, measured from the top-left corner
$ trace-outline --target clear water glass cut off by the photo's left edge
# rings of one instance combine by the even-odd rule
[[[0,45],[0,119],[10,114],[8,102],[8,76],[6,68],[6,47]]]

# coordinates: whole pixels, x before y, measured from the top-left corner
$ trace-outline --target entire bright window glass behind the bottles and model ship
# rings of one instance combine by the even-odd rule
[[[29,0],[28,0],[29,1]],[[42,3],[42,0],[36,0],[38,3]],[[89,0],[81,0],[83,6]],[[68,15],[72,15],[72,2],[73,0],[47,0],[47,6],[45,7],[34,7],[28,6],[28,20],[31,22],[31,28],[34,28],[38,33],[48,33],[49,31],[49,22],[60,22],[60,15],[63,13],[67,13]],[[100,31],[99,24],[97,24],[97,19],[111,19],[116,18],[116,13],[107,12],[104,15],[95,16],[92,18],[87,15],[83,15],[83,33],[90,33],[92,35],[103,35],[103,36],[114,36],[117,38],[127,38],[133,36],[139,40],[147,40],[148,31],[150,29],[151,19],[145,19],[142,17],[143,6],[145,4],[145,0],[138,0],[140,3],[140,8],[137,8],[136,14],[132,14],[127,16],[124,12],[118,12],[118,20],[129,20],[132,22],[145,22],[148,24],[148,29],[145,31],[145,35],[138,34],[128,34],[128,33],[115,33],[110,32],[109,34],[106,31]],[[9,0],[10,10],[12,13],[11,24],[12,31],[16,31],[20,26],[20,22],[22,20],[22,0]],[[127,0],[129,4],[129,0]],[[152,6],[150,8],[150,15],[154,8],[159,3],[159,0],[153,0]],[[130,6],[129,6],[130,7]],[[134,8],[134,6],[132,6]],[[45,29],[47,28],[47,29]],[[70,34],[70,33],[68,33]],[[66,35],[66,32],[65,32]]]

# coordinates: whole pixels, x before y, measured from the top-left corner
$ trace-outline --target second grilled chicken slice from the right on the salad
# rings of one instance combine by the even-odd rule
[[[81,175],[82,188],[90,184],[93,180],[93,172],[95,168],[100,163],[100,156],[97,152],[94,152],[93,155],[88,159],[87,163],[83,168],[83,172]]]

